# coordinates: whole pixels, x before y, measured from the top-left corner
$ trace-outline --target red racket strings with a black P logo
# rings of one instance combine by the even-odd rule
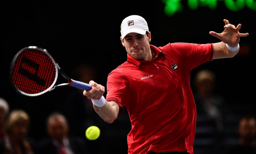
[[[47,53],[28,49],[17,57],[13,81],[15,87],[23,93],[42,93],[54,85],[56,72],[55,64]]]

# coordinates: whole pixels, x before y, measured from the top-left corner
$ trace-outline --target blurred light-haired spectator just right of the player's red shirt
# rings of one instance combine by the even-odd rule
[[[194,98],[197,114],[214,119],[217,131],[222,131],[225,102],[221,96],[214,94],[215,81],[216,76],[212,71],[199,71],[195,76],[196,93],[194,93]]]

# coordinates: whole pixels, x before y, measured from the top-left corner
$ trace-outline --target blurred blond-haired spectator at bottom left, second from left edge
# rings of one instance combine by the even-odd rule
[[[34,154],[26,140],[29,131],[29,115],[23,110],[13,110],[5,125],[3,154]]]

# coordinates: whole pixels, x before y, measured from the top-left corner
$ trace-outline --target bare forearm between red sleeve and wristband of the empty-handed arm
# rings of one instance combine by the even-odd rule
[[[231,58],[234,57],[239,52],[239,49],[236,51],[231,51],[227,48],[224,42],[218,42],[213,44],[213,57],[212,59],[219,58]]]

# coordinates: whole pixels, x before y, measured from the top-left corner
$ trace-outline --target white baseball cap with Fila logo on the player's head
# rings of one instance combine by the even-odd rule
[[[131,32],[144,35],[148,30],[148,23],[139,15],[130,15],[126,17],[121,24],[121,37],[122,39]]]

